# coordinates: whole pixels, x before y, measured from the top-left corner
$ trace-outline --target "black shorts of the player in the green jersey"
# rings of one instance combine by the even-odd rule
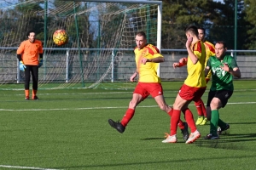
[[[230,99],[232,94],[233,91],[230,90],[210,90],[208,94],[207,106],[210,106],[213,98],[218,98],[221,101],[222,107],[224,107],[225,105],[227,105],[228,100]]]

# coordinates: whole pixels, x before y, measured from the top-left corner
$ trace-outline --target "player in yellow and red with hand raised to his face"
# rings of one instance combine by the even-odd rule
[[[186,122],[188,122],[191,129],[189,139],[186,141],[186,144],[190,144],[201,136],[195,127],[194,117],[188,106],[191,101],[199,101],[207,88],[204,74],[206,48],[198,37],[196,26],[189,26],[185,33],[187,37],[186,48],[189,54],[187,59],[188,77],[184,81],[175,99],[172,110],[171,134],[168,135],[164,141],[177,140],[177,124],[180,119],[181,111],[183,111]],[[174,68],[177,66],[179,66],[178,63],[173,64]]]

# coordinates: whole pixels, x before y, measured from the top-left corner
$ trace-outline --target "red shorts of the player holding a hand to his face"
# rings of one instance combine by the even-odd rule
[[[201,96],[205,93],[206,89],[207,87],[193,88],[183,84],[183,86],[179,89],[178,94],[182,99],[198,101],[201,99]]]

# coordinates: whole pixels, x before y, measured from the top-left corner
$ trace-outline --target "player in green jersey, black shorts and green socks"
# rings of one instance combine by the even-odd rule
[[[236,59],[226,54],[227,48],[223,41],[216,42],[215,56],[207,61],[205,75],[212,71],[212,86],[207,100],[207,119],[211,120],[210,133],[205,139],[218,139],[219,133],[230,128],[230,125],[219,118],[218,110],[224,107],[234,91],[233,77],[241,77]]]

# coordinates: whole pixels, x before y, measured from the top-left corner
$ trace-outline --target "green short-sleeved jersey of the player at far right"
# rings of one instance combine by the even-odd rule
[[[209,66],[212,71],[212,91],[222,89],[234,90],[233,76],[220,68],[220,66],[224,66],[224,64],[228,65],[231,70],[238,67],[236,59],[230,55],[225,55],[223,60],[218,59],[216,56],[211,56],[207,61],[207,66]]]

